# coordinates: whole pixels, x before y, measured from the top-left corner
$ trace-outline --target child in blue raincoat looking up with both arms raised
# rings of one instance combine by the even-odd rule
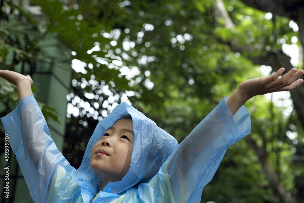
[[[227,147],[250,133],[243,104],[303,82],[303,70],[279,77],[283,72],[242,82],[179,145],[139,111],[119,104],[98,123],[77,170],[50,138],[30,76],[0,70],[17,86],[20,101],[1,120],[35,202],[200,202]]]

